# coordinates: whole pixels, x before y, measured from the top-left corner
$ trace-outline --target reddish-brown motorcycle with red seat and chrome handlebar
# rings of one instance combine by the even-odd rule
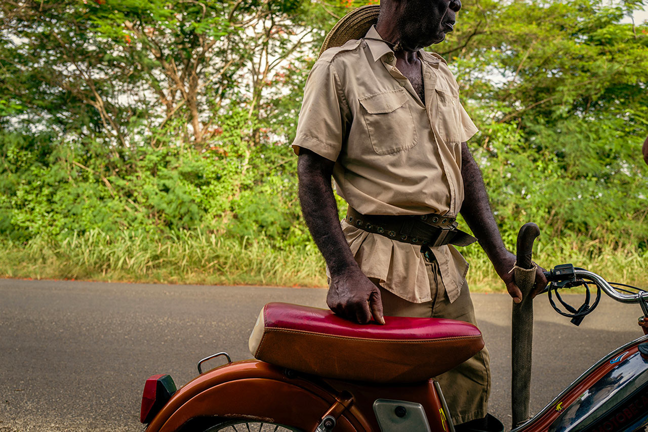
[[[518,263],[525,262],[524,268],[532,264],[537,235],[529,234],[527,225],[518,236]],[[514,376],[511,432],[645,430],[648,292],[621,288],[571,264],[545,275],[550,285],[543,292],[572,323],[580,324],[603,292],[619,302],[640,304],[644,335],[597,361],[533,416],[528,407],[520,410],[528,397],[515,401],[520,377]],[[591,306],[588,284],[597,287]],[[587,290],[578,309],[559,295],[575,286]],[[554,296],[568,312],[555,305]],[[514,334],[514,374],[515,339]],[[472,324],[450,319],[386,317],[382,326],[360,325],[328,310],[269,303],[249,348],[255,359],[233,362],[226,352],[201,359],[198,376],[180,389],[168,374],[148,378],[141,403],[146,432],[455,432],[441,386],[430,377],[479,352],[483,339]],[[205,362],[216,358],[227,363],[203,371]]]

